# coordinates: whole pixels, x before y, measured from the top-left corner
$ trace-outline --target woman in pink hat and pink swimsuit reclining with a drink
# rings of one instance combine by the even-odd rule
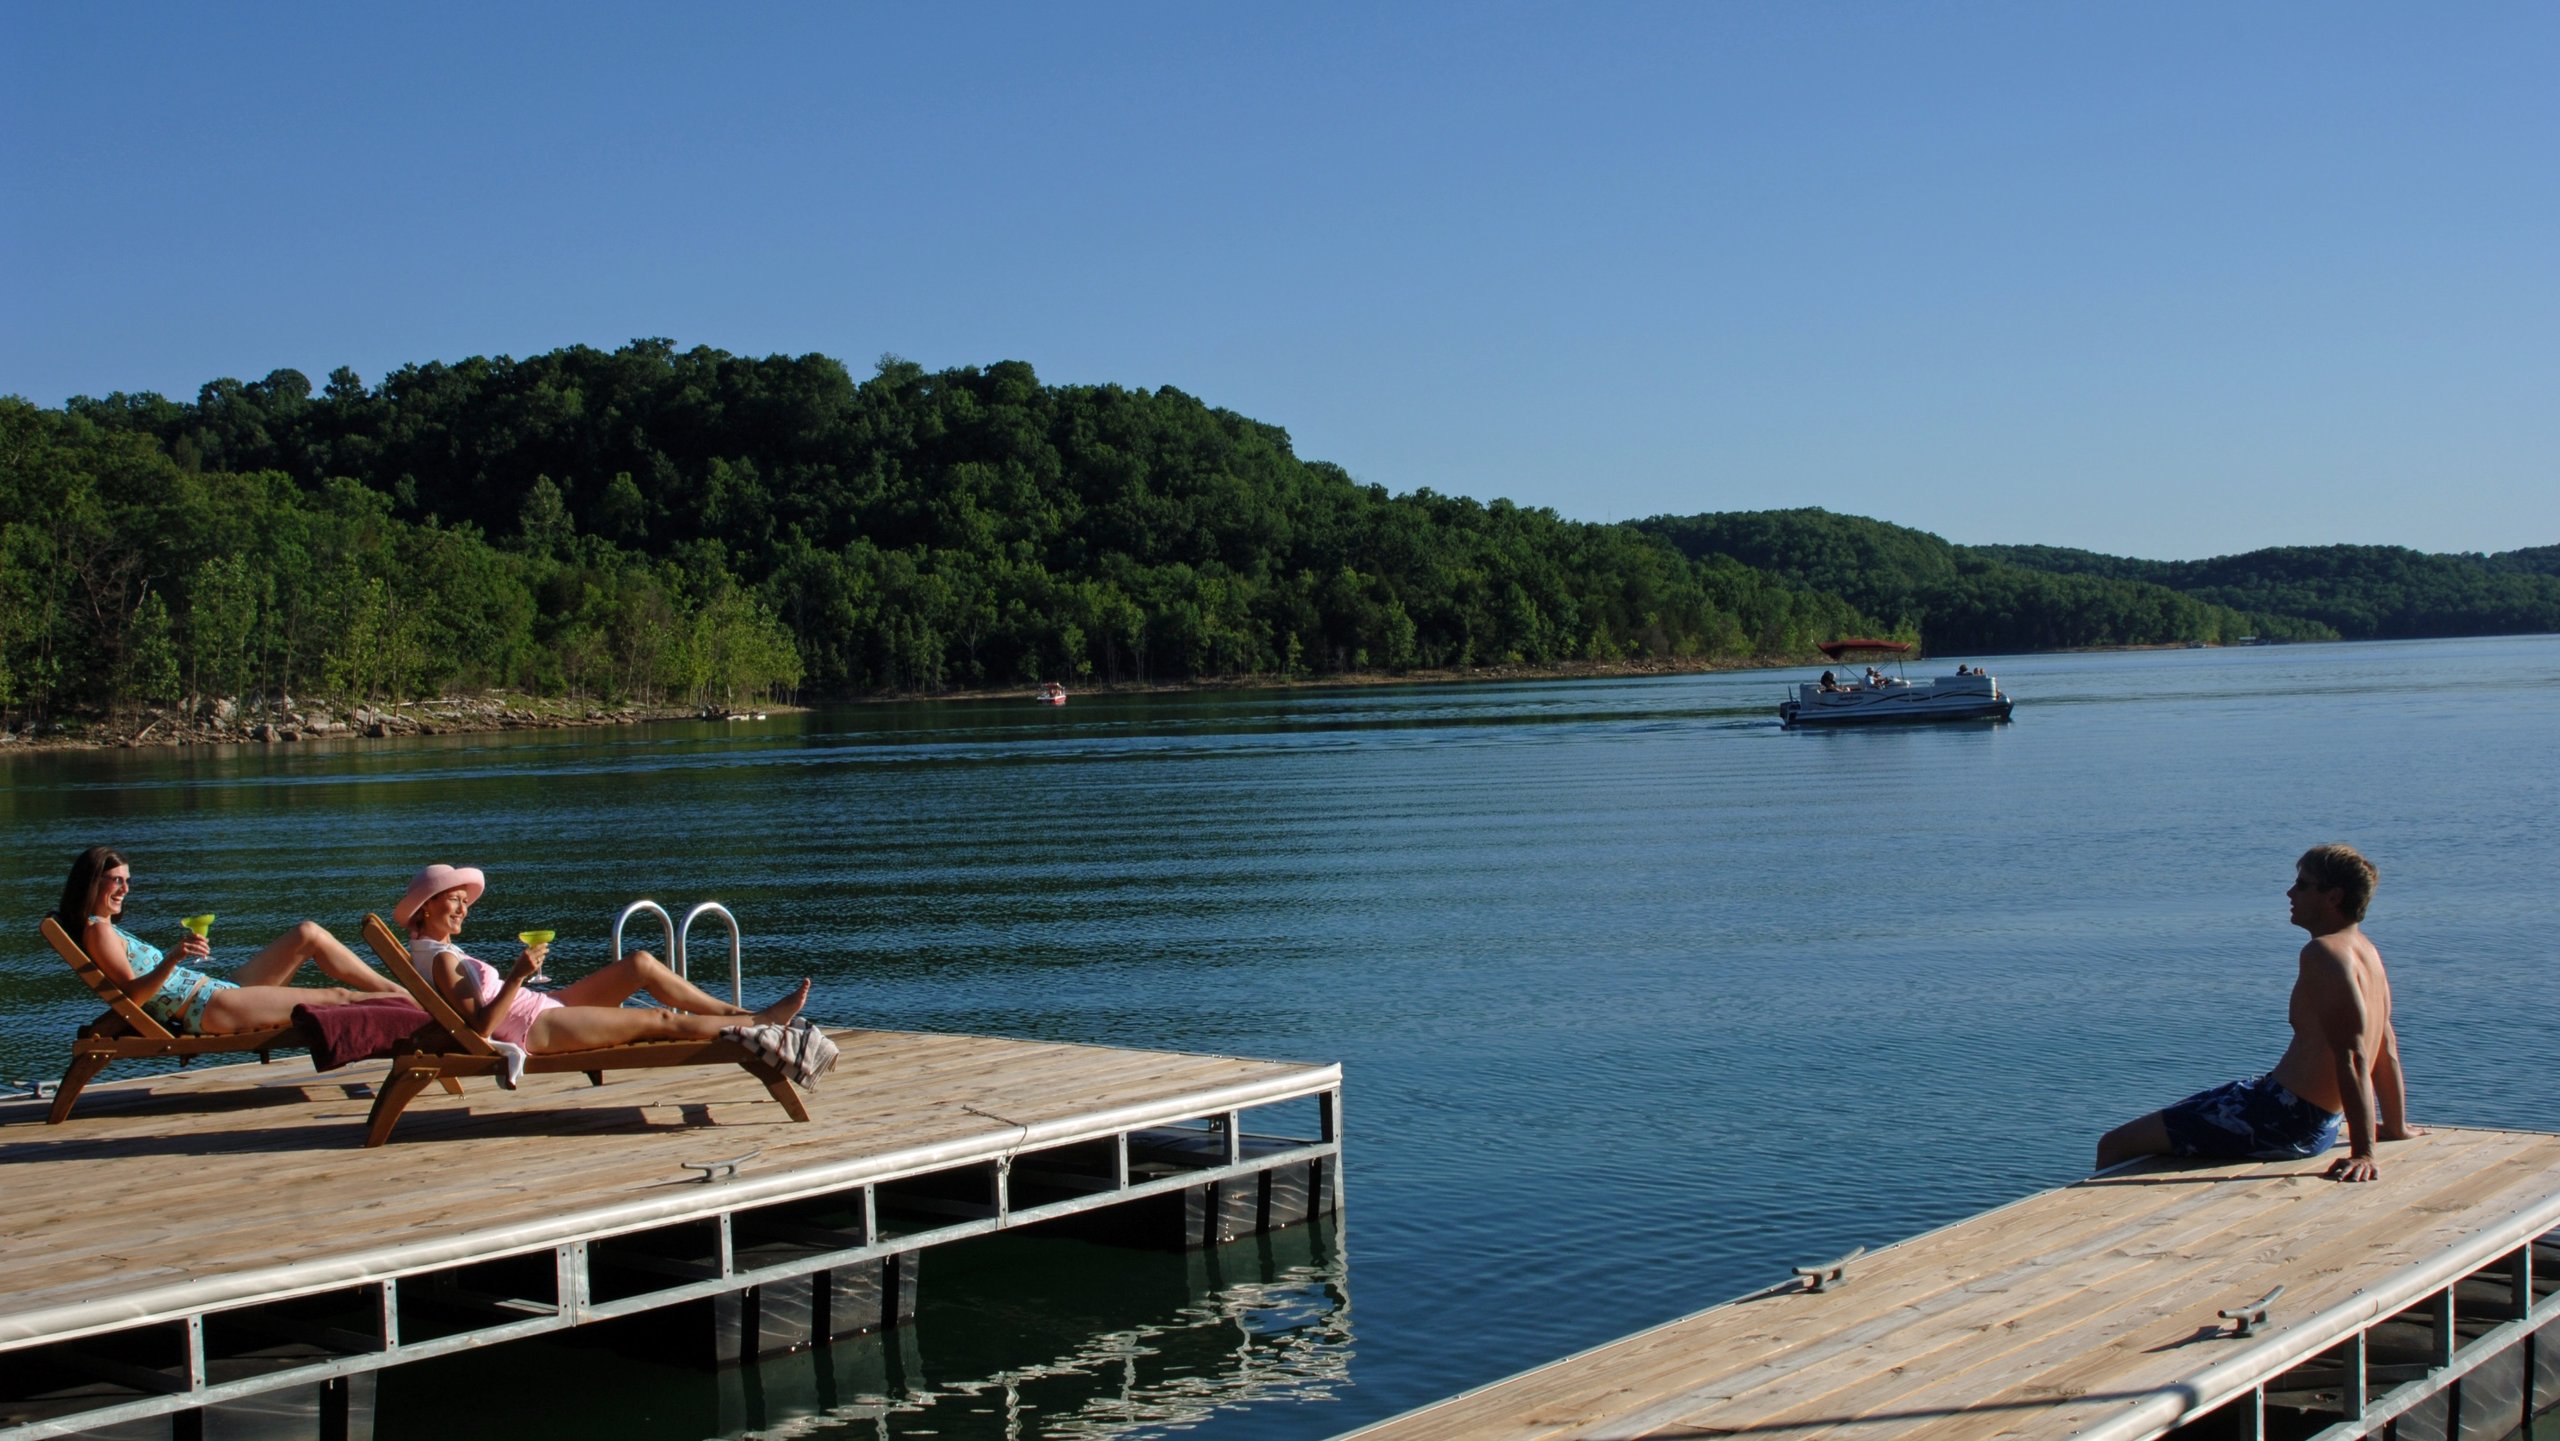
[[[428,983],[492,1042],[543,1055],[625,1042],[714,1039],[722,1026],[783,1026],[809,1001],[809,983],[801,980],[791,996],[763,1011],[745,1011],[709,996],[645,950],[617,957],[558,991],[527,991],[525,983],[543,973],[543,960],[550,955],[548,942],[525,947],[507,975],[453,944],[463,919],[471,916],[471,904],[486,888],[489,878],[474,865],[430,865],[410,880],[410,893],[392,909],[392,919],[407,927],[410,960]],[[622,1006],[640,991],[673,1011]]]

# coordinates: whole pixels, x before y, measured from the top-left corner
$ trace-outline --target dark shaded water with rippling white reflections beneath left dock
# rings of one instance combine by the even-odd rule
[[[722,1372],[719,1436],[1134,1441],[1352,1380],[1334,1223],[1190,1254],[991,1239],[929,1254],[922,1295],[901,1331]]]

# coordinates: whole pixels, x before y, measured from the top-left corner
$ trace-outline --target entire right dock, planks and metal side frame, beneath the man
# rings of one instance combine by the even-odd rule
[[[2516,1436],[2560,1405],[2560,1136],[2440,1129],[2381,1162],[2371,1185],[2324,1159],[2135,1162],[1802,1257],[1769,1290],[1349,1436]]]

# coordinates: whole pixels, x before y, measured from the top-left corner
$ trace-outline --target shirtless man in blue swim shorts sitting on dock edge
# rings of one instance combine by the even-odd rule
[[[2373,1180],[2376,1142],[2406,1142],[2409,1095],[2391,1029],[2391,978],[2360,921],[2373,901],[2373,863],[2345,845],[2314,845],[2294,863],[2294,924],[2312,932],[2294,978],[2294,1044],[2276,1070],[2199,1090],[2166,1111],[2127,1121],[2097,1144],[2097,1170],[2132,1157],[2309,1159],[2337,1144],[2332,1180]]]

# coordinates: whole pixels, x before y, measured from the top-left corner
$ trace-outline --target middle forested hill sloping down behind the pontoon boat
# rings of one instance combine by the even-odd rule
[[[2017,566],[1925,530],[1825,509],[1661,514],[1636,525],[1684,555],[1731,555],[1838,594],[1874,617],[1917,630],[1938,655],[2337,635],[2317,619],[2240,612],[2107,571]]]

